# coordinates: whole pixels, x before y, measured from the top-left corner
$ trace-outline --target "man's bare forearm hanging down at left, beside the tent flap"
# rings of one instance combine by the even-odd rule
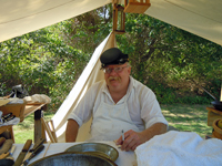
[[[65,142],[67,143],[75,142],[78,131],[79,131],[79,124],[72,118],[68,120],[67,131],[65,131]]]

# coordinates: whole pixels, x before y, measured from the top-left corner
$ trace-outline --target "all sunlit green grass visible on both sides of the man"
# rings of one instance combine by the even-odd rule
[[[209,106],[209,105],[208,105]],[[206,105],[161,105],[162,113],[169,124],[179,131],[195,132],[201,137],[212,133],[212,127],[208,126]],[[44,113],[44,120],[49,121],[53,113]],[[33,114],[27,116],[22,123],[13,127],[17,144],[23,144],[27,139],[33,141]]]

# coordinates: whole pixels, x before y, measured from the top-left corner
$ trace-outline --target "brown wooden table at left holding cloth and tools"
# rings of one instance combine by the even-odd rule
[[[22,100],[23,101],[23,100]],[[39,137],[46,138],[44,135],[44,129],[42,129],[42,124],[41,124],[41,117],[43,116],[42,111],[47,110],[47,104],[46,103],[26,103],[23,101],[20,103],[8,103],[3,106],[0,106],[0,110],[3,112],[3,114],[9,114],[12,113],[17,117],[20,117],[20,123],[23,122],[24,117],[28,115],[34,113],[34,142]],[[13,126],[1,126],[0,127],[0,134],[2,134],[6,131],[9,131],[11,134],[11,138],[14,141],[13,136]]]

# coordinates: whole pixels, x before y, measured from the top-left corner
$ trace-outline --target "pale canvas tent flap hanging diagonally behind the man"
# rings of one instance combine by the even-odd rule
[[[102,52],[113,46],[117,46],[115,37],[114,33],[110,33],[104,39],[104,41],[95,49],[90,62],[83,70],[73,89],[71,90],[56,115],[52,117],[59,142],[64,142],[64,132],[69,114],[77,106],[79,101],[85,94],[87,90],[93,83],[104,79],[104,74],[100,70],[101,63],[99,58]],[[77,141],[84,141],[87,137],[89,137],[90,124],[91,120],[82,127],[80,127]]]

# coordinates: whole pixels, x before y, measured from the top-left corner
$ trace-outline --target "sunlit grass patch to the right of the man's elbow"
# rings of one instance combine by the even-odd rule
[[[212,133],[205,105],[161,105],[169,124],[179,131],[195,132],[201,137]]]

